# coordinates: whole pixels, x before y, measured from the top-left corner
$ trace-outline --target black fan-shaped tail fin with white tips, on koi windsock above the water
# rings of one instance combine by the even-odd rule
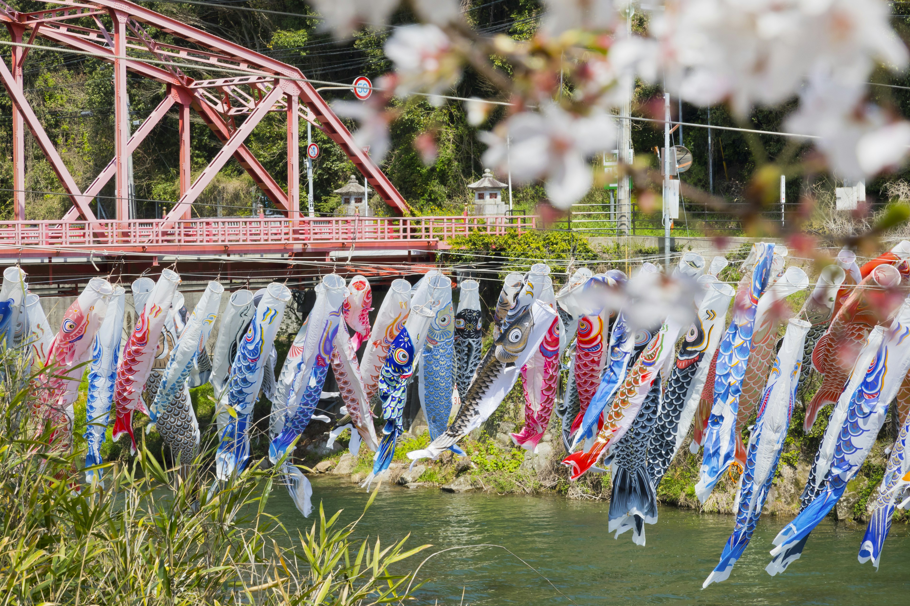
[[[657,523],[657,496],[648,470],[645,467],[614,469],[607,531],[616,531],[615,538],[618,539],[623,532],[632,530],[632,542],[643,546],[644,524]]]

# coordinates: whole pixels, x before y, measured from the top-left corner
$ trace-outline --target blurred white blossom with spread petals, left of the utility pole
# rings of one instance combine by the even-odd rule
[[[511,168],[512,179],[520,183],[545,180],[551,203],[565,209],[591,188],[588,158],[616,146],[616,124],[600,111],[577,116],[546,104],[539,114],[514,114],[495,131],[478,136],[490,146],[483,154],[484,166],[495,166],[501,174]]]

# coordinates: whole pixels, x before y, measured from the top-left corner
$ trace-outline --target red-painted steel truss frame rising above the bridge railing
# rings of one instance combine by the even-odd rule
[[[0,65],[0,79],[14,103],[13,156],[16,219],[25,218],[23,137],[27,124],[74,204],[64,219],[73,221],[81,215],[92,223],[94,229],[96,217],[88,204],[110,178],[116,176],[116,221],[126,227],[125,222],[129,220],[126,159],[175,102],[178,105],[180,117],[180,199],[167,214],[166,226],[173,225],[179,219],[190,218],[189,212],[192,204],[231,156],[238,160],[260,189],[288,215],[288,218],[298,218],[298,118],[316,124],[329,138],[338,143],[350,161],[366,176],[369,184],[387,204],[400,212],[410,210],[404,198],[389,182],[388,177],[354,142],[353,136],[341,123],[338,116],[331,111],[329,104],[319,96],[319,93],[306,81],[306,77],[296,67],[283,64],[265,55],[259,55],[243,46],[207,34],[196,27],[131,2],[90,0],[77,3],[70,0],[50,0],[48,4],[60,6],[33,13],[23,13],[16,11],[4,0],[0,0],[0,21],[5,22],[14,42],[23,41],[25,33],[30,32],[30,43],[34,43],[37,35],[70,48],[104,55],[106,61],[114,64],[116,155],[101,174],[98,174],[95,182],[89,185],[86,192],[80,192],[63,159],[57,154],[35,113],[28,106],[22,88],[22,64],[28,50],[14,47],[13,68],[10,70],[6,65]],[[99,18],[105,15],[110,17],[112,31],[108,31]],[[86,20],[93,21],[94,26],[86,27]],[[144,29],[145,25],[167,35],[182,38],[191,44],[158,43],[147,34]],[[133,53],[132,56],[129,55],[130,52]],[[136,56],[137,53],[151,54],[157,61],[169,63],[178,59],[181,63],[192,62],[203,68],[206,65],[230,68],[248,72],[250,75],[197,82],[181,71],[177,65],[153,65],[147,63],[142,56]],[[146,122],[132,136],[130,136],[130,116],[126,101],[127,71],[155,79],[169,86],[166,100],[158,105],[155,112],[148,116]],[[289,79],[281,79],[280,76]],[[241,90],[239,86],[248,87],[249,94]],[[210,90],[212,92],[209,92]],[[219,91],[220,94],[218,94]],[[231,104],[234,106],[232,107]],[[197,177],[194,184],[190,184],[189,176],[188,112],[190,107],[203,117],[209,128],[224,143],[222,150]],[[248,134],[269,111],[284,112],[288,117],[288,181],[292,182],[288,186],[288,193],[282,190],[244,144]],[[245,116],[239,127],[234,125],[236,115]]]

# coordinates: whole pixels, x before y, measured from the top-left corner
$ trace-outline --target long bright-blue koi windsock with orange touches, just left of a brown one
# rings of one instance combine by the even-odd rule
[[[716,375],[714,378],[714,405],[704,436],[704,455],[701,476],[695,485],[699,501],[705,502],[721,474],[735,461],[736,415],[743,376],[752,350],[753,327],[758,300],[767,287],[773,261],[773,245],[753,245],[755,264],[748,296],[737,300],[730,323],[718,347]],[[738,464],[738,463],[737,463]]]

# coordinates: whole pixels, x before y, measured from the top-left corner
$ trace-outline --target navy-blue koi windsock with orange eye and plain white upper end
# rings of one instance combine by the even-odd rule
[[[448,300],[451,304],[451,280],[435,273],[425,278],[425,287],[411,298],[410,315],[404,328],[389,347],[389,356],[379,373],[379,402],[382,403],[382,442],[373,457],[373,471],[360,484],[369,487],[373,478],[389,469],[395,456],[395,443],[404,432],[401,416],[408,393],[408,380],[420,362],[430,323]],[[449,371],[451,373],[451,369]]]

